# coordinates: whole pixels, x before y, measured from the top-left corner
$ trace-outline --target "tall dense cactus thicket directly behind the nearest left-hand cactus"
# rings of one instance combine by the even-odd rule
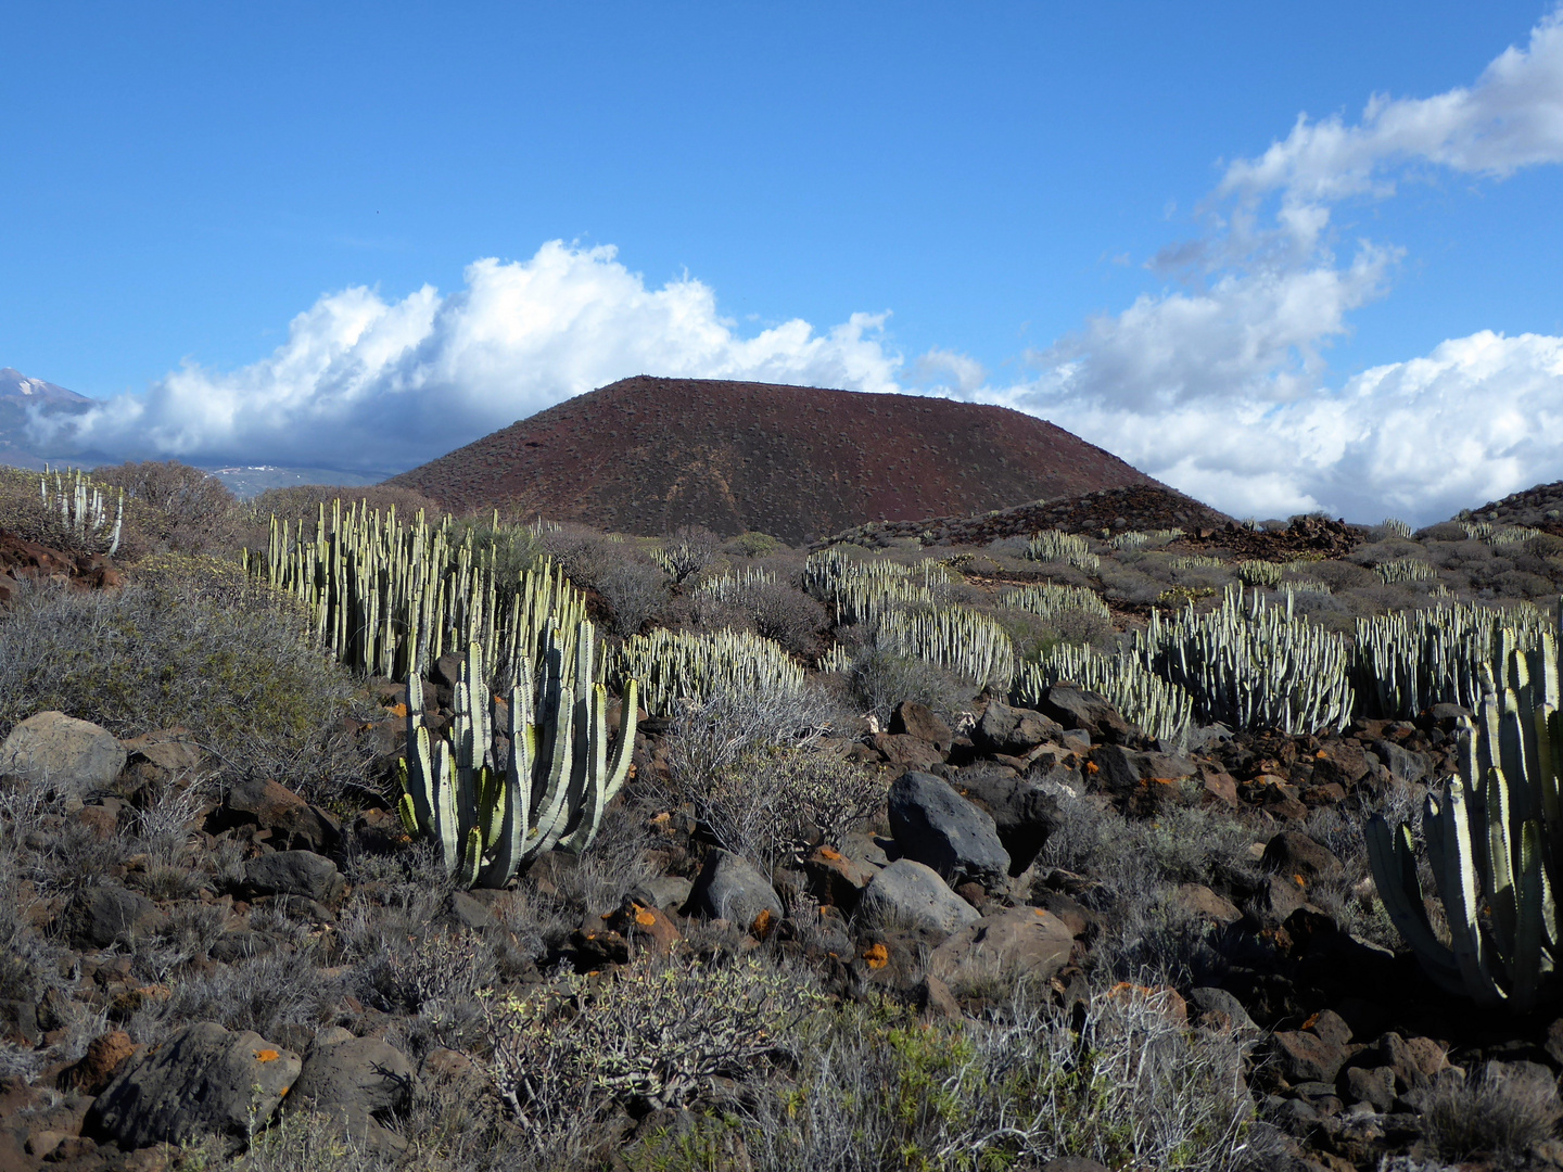
[[[574,642],[586,619],[586,595],[564,572],[539,561],[500,581],[494,548],[461,539],[449,519],[419,513],[403,525],[395,509],[320,505],[306,534],[272,517],[266,559],[253,570],[305,606],[316,638],[344,664],[366,675],[405,677],[414,663],[433,663],[467,644],[483,649],[495,680],[530,678],[542,661],[547,627]]]

